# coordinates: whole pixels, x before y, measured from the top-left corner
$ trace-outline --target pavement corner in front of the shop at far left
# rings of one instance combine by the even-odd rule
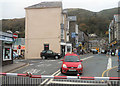
[[[24,62],[13,62],[13,64],[2,66],[2,72],[3,73],[13,72],[14,70],[25,67],[27,65],[28,63],[24,63]]]

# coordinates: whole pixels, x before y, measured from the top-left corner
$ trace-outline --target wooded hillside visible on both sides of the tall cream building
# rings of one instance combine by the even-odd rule
[[[100,12],[92,12],[85,9],[64,9],[67,10],[68,16],[77,16],[77,24],[79,30],[86,33],[96,33],[100,37],[106,37],[105,32],[108,31],[110,21],[113,15],[117,14],[118,9],[106,9]],[[25,36],[25,19],[3,19],[3,31],[11,30],[19,31],[19,37]]]

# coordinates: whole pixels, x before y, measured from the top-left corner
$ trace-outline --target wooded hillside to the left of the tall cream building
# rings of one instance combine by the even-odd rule
[[[3,19],[2,20],[2,31],[6,32],[7,30],[12,31],[19,31],[19,37],[25,37],[25,19]]]

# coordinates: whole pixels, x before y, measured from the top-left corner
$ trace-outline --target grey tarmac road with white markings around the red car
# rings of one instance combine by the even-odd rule
[[[107,76],[108,71],[114,66],[117,66],[117,57],[106,56],[105,54],[86,54],[80,55],[80,58],[83,59],[83,74],[81,76],[91,76],[91,77],[101,77]],[[63,59],[63,58],[61,58]],[[53,76],[69,76],[66,74],[61,74],[60,68],[62,62],[60,59],[47,59],[47,60],[15,60],[15,62],[29,62],[29,66],[26,66],[22,69],[14,71],[16,73],[26,73],[30,72],[35,75],[53,75]],[[110,76],[114,76],[113,72],[109,72]],[[71,75],[70,75],[71,76]],[[72,75],[76,76],[76,75]],[[50,84],[55,82],[53,79],[44,79],[42,84]]]

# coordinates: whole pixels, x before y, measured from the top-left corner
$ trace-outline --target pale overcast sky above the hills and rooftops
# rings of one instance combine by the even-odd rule
[[[93,12],[118,7],[119,0],[0,0],[0,19],[25,17],[24,8],[43,1],[62,1],[63,8],[82,8]]]

